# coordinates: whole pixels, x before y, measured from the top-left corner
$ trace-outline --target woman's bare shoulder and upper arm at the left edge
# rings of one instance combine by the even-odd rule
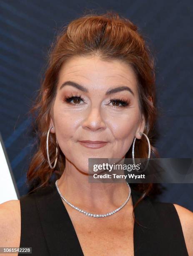
[[[19,247],[20,216],[20,200],[0,204],[0,247]]]

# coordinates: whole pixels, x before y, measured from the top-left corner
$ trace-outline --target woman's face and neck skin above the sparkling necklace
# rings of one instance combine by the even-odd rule
[[[60,86],[66,81],[77,82],[88,89],[82,92],[70,85]],[[127,86],[134,92],[116,92],[105,95],[109,89]],[[80,95],[82,100],[71,104],[64,97]],[[111,98],[130,100],[130,105],[113,107]],[[88,158],[124,158],[136,137],[141,138],[144,118],[140,115],[137,80],[133,69],[125,63],[102,61],[98,56],[76,56],[63,64],[59,73],[57,95],[52,109],[50,130],[56,133],[58,144],[66,158],[63,175],[58,180],[60,191],[69,202],[87,211],[103,212],[114,205],[120,206],[128,196],[125,183],[89,183]],[[142,117],[142,118],[141,118]],[[108,141],[98,148],[85,148],[78,140]],[[100,198],[100,200],[99,200]],[[123,198],[121,201],[120,198]],[[131,201],[131,200],[130,200]],[[81,203],[80,203],[81,202]],[[111,207],[112,206],[112,207]]]

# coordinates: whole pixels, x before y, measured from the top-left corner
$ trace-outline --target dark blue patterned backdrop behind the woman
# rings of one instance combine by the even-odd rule
[[[50,45],[61,27],[89,10],[114,10],[139,27],[156,61],[155,146],[162,158],[193,158],[192,8],[190,0],[0,0],[0,133],[20,196],[28,192],[35,149],[27,113]],[[164,187],[158,200],[193,211],[193,184]]]

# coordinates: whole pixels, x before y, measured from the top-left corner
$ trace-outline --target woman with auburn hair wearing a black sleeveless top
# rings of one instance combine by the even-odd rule
[[[193,213],[153,201],[153,184],[88,182],[88,158],[130,158],[134,139],[135,157],[148,158],[157,116],[154,62],[133,23],[106,13],[65,27],[34,112],[33,190],[0,206],[1,247],[53,256],[193,255]],[[150,151],[158,156],[152,145]]]

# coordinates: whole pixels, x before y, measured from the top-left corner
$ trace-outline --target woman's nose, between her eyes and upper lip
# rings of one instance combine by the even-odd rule
[[[85,120],[82,123],[82,127],[84,129],[90,129],[92,131],[96,131],[98,129],[105,129],[106,124],[101,117],[100,110],[98,108],[93,108],[89,110],[89,113]]]

